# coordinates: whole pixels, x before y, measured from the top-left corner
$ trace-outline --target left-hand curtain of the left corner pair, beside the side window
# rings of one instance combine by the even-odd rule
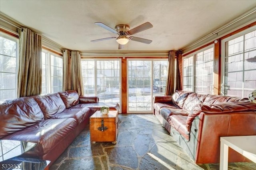
[[[72,83],[71,83],[71,58],[70,58],[70,51],[65,49],[63,51],[63,90],[71,90]]]

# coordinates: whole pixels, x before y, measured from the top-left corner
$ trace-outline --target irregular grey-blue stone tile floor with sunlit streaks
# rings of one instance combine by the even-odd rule
[[[52,164],[50,170],[219,169],[219,164],[195,164],[154,115],[120,114],[118,117],[117,144],[91,144],[88,125]],[[228,169],[256,170],[256,164],[231,163]]]

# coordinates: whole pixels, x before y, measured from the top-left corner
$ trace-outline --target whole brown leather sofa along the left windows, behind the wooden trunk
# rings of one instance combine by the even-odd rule
[[[35,142],[26,156],[52,164],[104,105],[119,111],[118,103],[102,103],[71,90],[0,101],[0,139]]]

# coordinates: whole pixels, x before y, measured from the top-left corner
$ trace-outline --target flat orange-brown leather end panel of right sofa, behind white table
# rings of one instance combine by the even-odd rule
[[[238,107],[236,103],[224,103],[218,105],[224,107],[223,112],[217,112],[216,108],[213,110],[204,110],[192,122],[196,123],[198,120],[198,127],[191,128],[190,134],[197,134],[198,142],[196,150],[195,162],[198,164],[205,164],[208,162],[218,163],[220,161],[220,137],[221,136],[247,136],[256,135],[256,105],[242,103],[244,106]],[[230,105],[230,111],[228,111]],[[250,108],[246,107],[252,106]],[[233,108],[235,107],[235,108]],[[252,111],[254,109],[254,111]],[[215,111],[214,111],[215,110]],[[191,136],[190,136],[191,137]],[[230,162],[243,162],[244,157],[230,150]],[[209,153],[211,153],[209,155]]]

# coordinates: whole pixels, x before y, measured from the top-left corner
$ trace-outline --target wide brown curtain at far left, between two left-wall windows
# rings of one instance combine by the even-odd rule
[[[42,90],[42,36],[28,28],[22,28],[18,32],[18,97],[39,95]]]

